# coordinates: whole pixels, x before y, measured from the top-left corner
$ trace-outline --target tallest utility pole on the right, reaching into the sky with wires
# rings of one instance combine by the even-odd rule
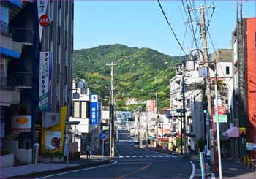
[[[208,77],[206,80],[206,96],[207,96],[207,104],[208,104],[208,115],[209,115],[210,121],[212,121],[212,123],[214,123],[214,121],[211,119],[212,118],[211,82],[210,82],[210,74],[209,74],[209,70],[208,70],[209,59],[208,59],[208,47],[207,47],[207,39],[206,39],[206,20],[205,20],[204,9],[205,9],[205,7],[203,7],[203,5],[201,5],[200,6],[200,15],[201,15],[201,20],[202,20],[201,33],[202,33],[202,37],[203,37],[203,64],[207,68],[207,71],[208,71]],[[213,134],[214,134],[214,125],[213,125]],[[214,140],[214,152],[212,152],[212,148],[211,148],[211,161],[212,161],[212,156],[214,156],[214,171],[216,172],[217,171],[217,164],[216,164],[217,157],[216,157],[215,140]]]

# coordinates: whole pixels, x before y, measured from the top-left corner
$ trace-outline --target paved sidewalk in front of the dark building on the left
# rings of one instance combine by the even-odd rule
[[[1,168],[1,178],[35,178],[42,175],[50,175],[58,172],[67,172],[86,167],[93,167],[101,164],[108,164],[109,161],[99,159],[70,160],[69,164],[64,162],[48,164],[26,164],[16,167]]]

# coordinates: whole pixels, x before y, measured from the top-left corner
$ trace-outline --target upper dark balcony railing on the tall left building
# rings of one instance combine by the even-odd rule
[[[20,42],[23,45],[33,45],[34,29],[12,28],[12,40],[15,42]]]

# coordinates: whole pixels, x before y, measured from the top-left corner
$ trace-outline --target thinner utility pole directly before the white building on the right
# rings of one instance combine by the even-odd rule
[[[185,62],[182,62],[182,109],[186,109],[185,106]],[[183,111],[183,134],[184,134],[184,155],[187,154],[187,130],[186,130],[186,112]],[[182,122],[181,122],[182,123]],[[182,124],[181,124],[182,125]],[[181,136],[182,139],[182,136]],[[181,142],[182,145],[182,142]],[[182,151],[182,149],[181,149]]]

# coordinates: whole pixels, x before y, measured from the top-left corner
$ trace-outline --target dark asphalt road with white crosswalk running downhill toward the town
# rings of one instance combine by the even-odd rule
[[[48,178],[189,178],[192,165],[180,156],[134,148],[127,131],[118,131],[115,162]]]

